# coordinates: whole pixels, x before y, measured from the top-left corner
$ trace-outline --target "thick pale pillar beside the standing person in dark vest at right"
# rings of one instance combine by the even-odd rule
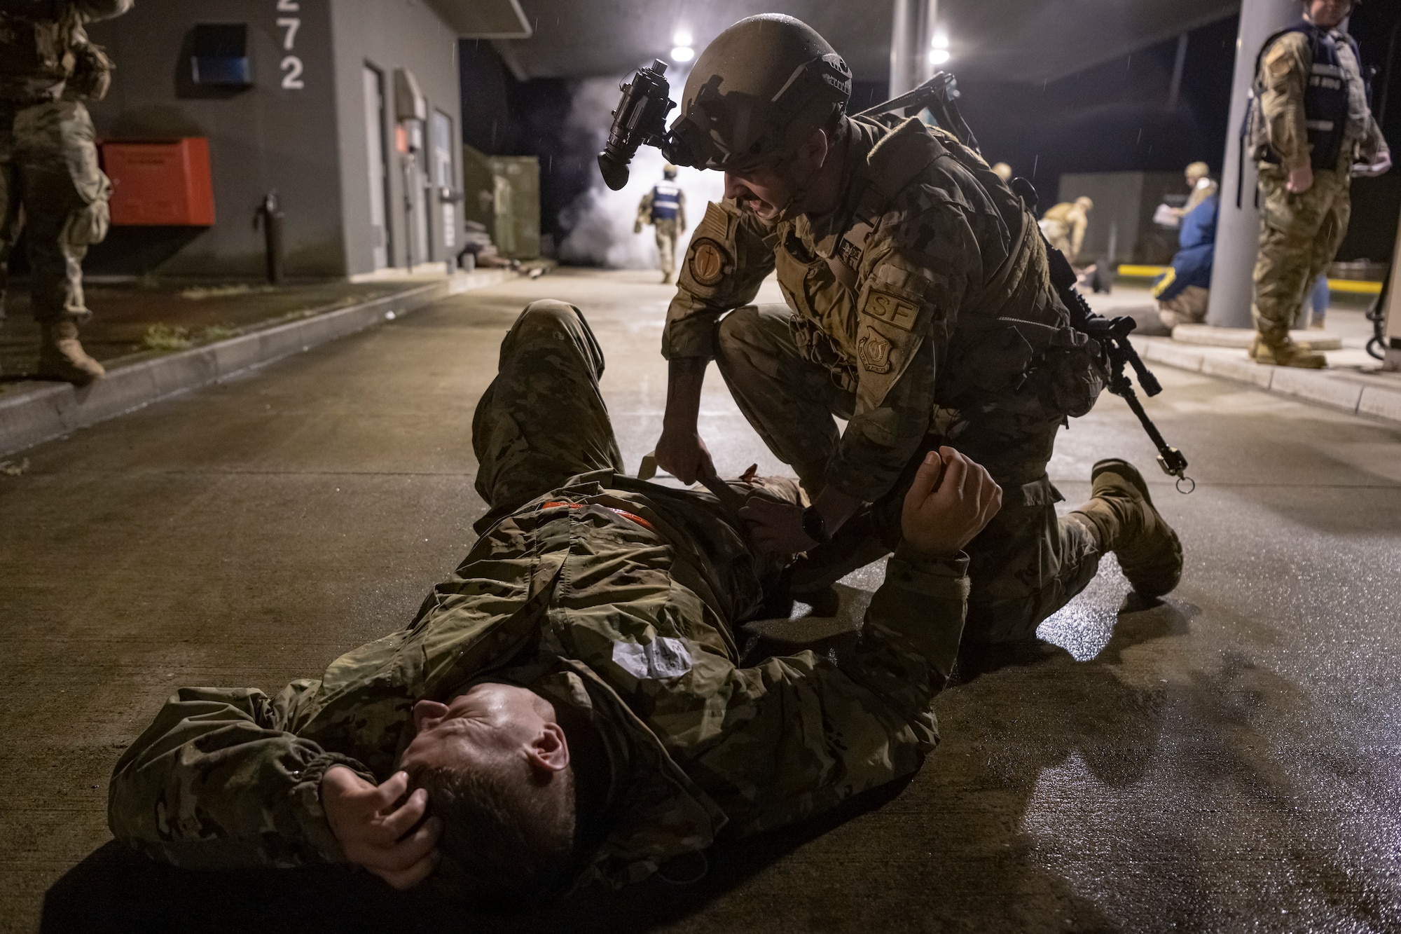
[[[1212,297],[1206,323],[1224,328],[1254,327],[1250,320],[1252,272],[1259,240],[1255,208],[1255,164],[1247,158],[1240,171],[1240,126],[1255,80],[1255,56],[1271,32],[1296,22],[1299,0],[1243,0],[1240,35],[1236,36],[1236,76],[1231,83],[1230,123],[1226,128],[1226,160],[1222,165],[1222,209],[1216,222],[1216,257],[1212,265]],[[1237,182],[1237,180],[1240,180]],[[1236,208],[1236,192],[1241,192]]]

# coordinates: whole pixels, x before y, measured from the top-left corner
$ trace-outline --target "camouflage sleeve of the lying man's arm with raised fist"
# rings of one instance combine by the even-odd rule
[[[709,777],[727,833],[800,820],[919,769],[939,742],[930,704],[958,649],[967,564],[902,548],[836,662],[800,652],[723,679],[723,710],[706,711],[723,721],[686,771]]]

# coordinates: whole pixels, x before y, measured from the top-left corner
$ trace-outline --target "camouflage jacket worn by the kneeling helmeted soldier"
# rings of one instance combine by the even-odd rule
[[[855,394],[828,482],[878,498],[930,431],[1003,487],[1035,480],[1063,412],[1033,398],[1027,373],[1042,337],[1069,321],[1035,220],[943,130],[918,119],[849,125],[848,178],[829,215],[769,227],[730,199],[706,208],[663,355],[713,358],[720,316],[752,302],[776,271],[799,348]],[[1027,332],[995,324],[1005,314]]]

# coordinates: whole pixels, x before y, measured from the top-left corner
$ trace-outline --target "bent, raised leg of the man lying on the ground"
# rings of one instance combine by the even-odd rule
[[[549,299],[525,306],[472,419],[476,492],[490,508],[479,532],[574,474],[623,470],[598,391],[602,373],[579,309]]]

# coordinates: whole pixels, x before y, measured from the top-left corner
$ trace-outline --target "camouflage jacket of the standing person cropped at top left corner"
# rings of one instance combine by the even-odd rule
[[[83,25],[122,15],[133,3],[8,0],[0,7],[0,100],[101,98],[112,62]]]

